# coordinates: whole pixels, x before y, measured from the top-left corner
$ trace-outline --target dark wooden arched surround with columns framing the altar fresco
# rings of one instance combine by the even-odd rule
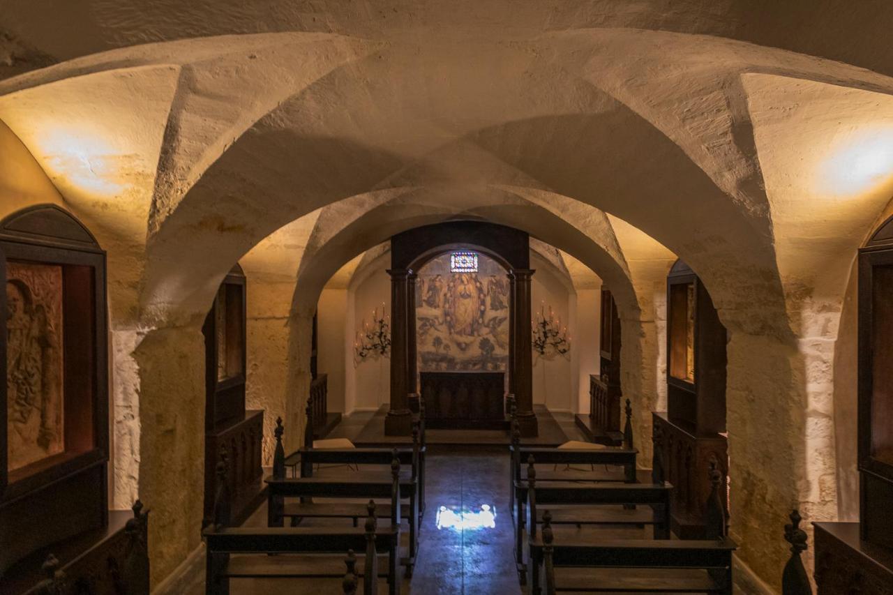
[[[452,250],[473,250],[505,267],[509,280],[509,392],[522,435],[536,436],[530,352],[530,236],[505,225],[452,221],[406,230],[391,238],[391,390],[385,433],[405,435],[416,394],[415,279],[421,266]]]

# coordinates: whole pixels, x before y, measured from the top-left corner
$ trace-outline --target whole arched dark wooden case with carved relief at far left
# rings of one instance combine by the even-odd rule
[[[38,205],[0,221],[0,282],[0,534],[16,536],[2,572],[106,523],[105,255],[71,214]]]

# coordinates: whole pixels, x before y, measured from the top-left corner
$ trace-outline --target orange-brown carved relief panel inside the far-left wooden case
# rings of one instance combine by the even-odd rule
[[[54,264],[6,267],[9,470],[63,452],[63,276]]]

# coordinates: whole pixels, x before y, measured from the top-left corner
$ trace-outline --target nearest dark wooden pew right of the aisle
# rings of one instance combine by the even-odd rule
[[[722,473],[711,470],[711,482],[705,540],[602,540],[570,536],[555,540],[552,514],[547,511],[542,517],[541,539],[531,537],[529,543],[531,592],[534,595],[544,590],[549,595],[574,591],[731,595],[731,557],[737,546],[727,536],[720,498]],[[538,497],[537,491],[531,490],[531,493]],[[665,519],[669,521],[669,514]],[[571,570],[556,578],[556,568]]]

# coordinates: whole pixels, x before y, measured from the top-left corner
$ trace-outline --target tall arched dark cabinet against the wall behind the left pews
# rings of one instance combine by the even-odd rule
[[[260,502],[263,410],[247,411],[246,278],[236,264],[204,319],[204,517],[213,516],[217,463],[227,467],[232,515],[238,522]]]

